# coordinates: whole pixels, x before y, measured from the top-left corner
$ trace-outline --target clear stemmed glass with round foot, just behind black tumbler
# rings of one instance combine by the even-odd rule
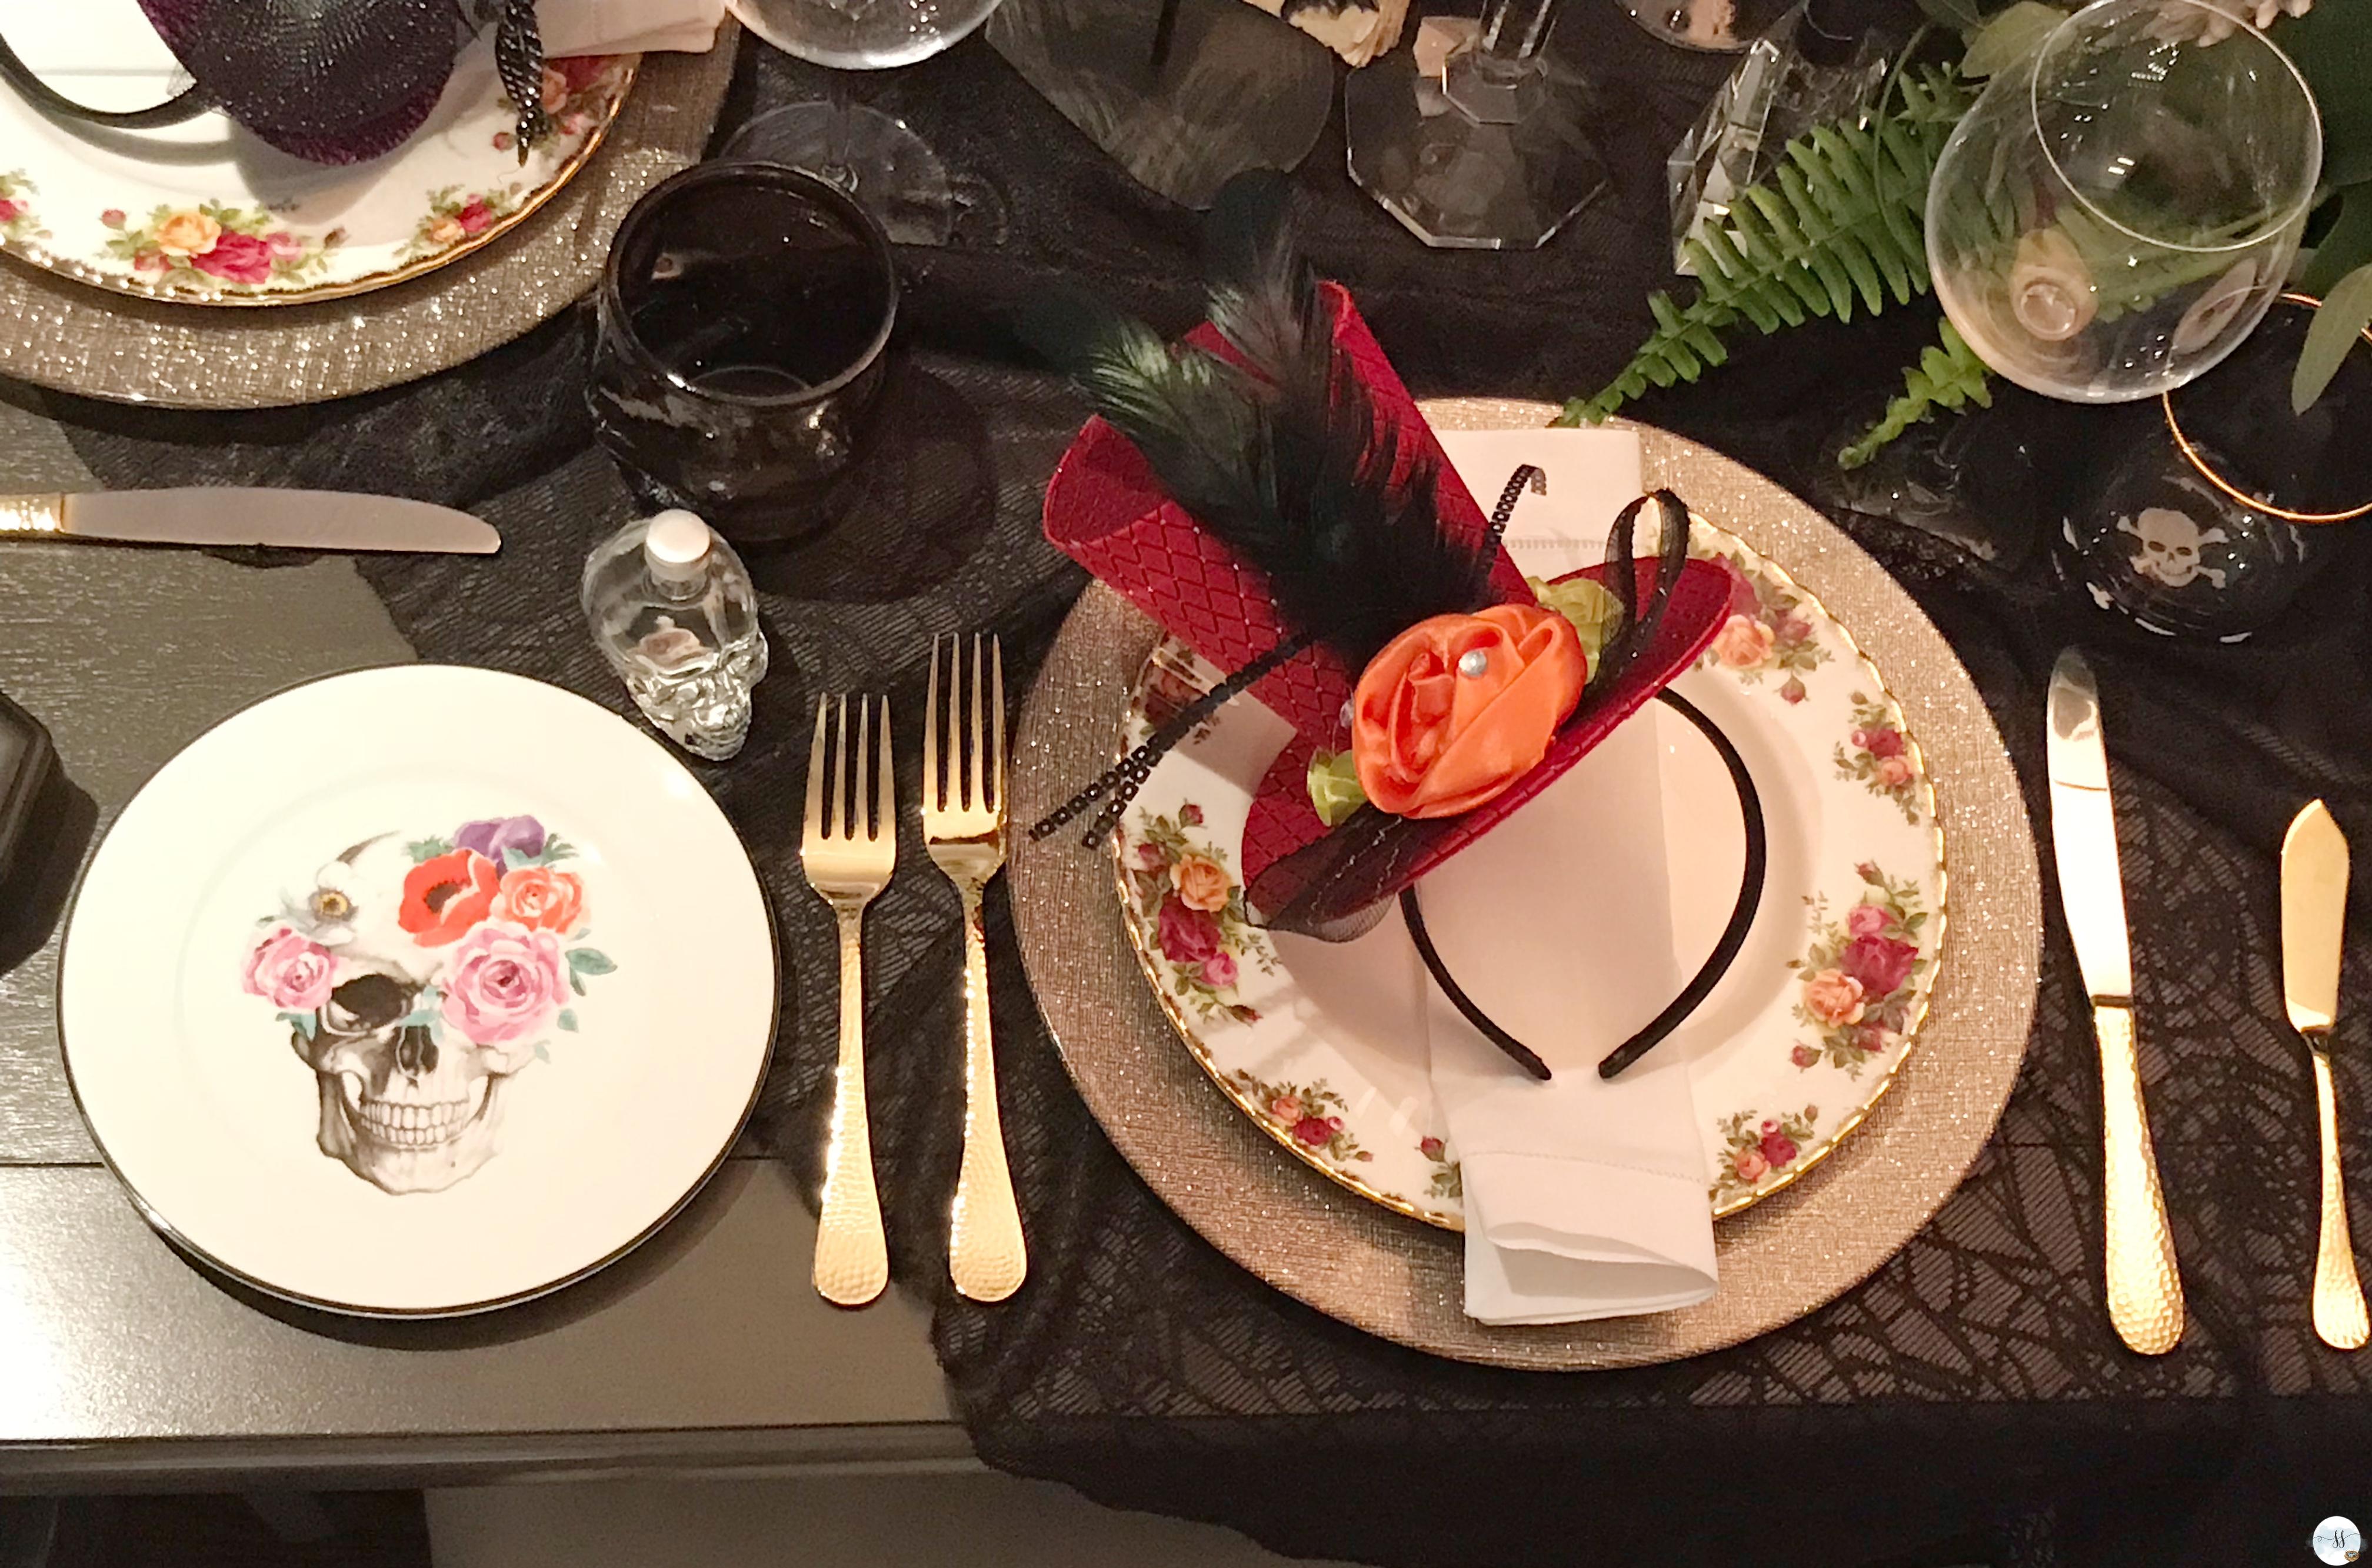
[[[880,71],[961,43],[996,0],[731,0],[742,26],[797,59],[835,71]],[[809,168],[847,190],[904,244],[946,244],[963,197],[946,164],[906,121],[828,97],[759,114],[726,145],[728,159]]]

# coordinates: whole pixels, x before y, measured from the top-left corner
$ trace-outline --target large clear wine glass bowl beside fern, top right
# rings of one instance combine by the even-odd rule
[[[2054,399],[2182,387],[2265,315],[2322,171],[2313,93],[2204,0],[2097,0],[1995,76],[1926,202],[1936,297]]]

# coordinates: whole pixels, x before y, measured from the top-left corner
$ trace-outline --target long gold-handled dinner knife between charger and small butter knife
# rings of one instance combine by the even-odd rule
[[[2099,686],[2073,648],[2052,667],[2047,759],[2059,901],[2076,942],[2076,968],[2092,994],[2092,1034],[2099,1039],[2109,1321],[2132,1350],[2163,1355],[2182,1340],[2182,1274],[2175,1271],[2175,1234],[2166,1224],[2132,1044],[2132,942],[2125,932],[2125,880],[2116,863]]]

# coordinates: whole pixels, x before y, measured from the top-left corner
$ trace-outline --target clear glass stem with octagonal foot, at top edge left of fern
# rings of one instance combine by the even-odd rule
[[[1549,47],[1563,0],[1487,0],[1440,76],[1397,50],[1343,83],[1350,178],[1426,244],[1532,249],[1606,190],[1587,83]]]

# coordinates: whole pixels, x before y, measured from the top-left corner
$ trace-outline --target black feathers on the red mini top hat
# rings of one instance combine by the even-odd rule
[[[1283,622],[1350,669],[1416,622],[1478,603],[1478,546],[1442,529],[1440,472],[1378,429],[1335,349],[1283,187],[1212,209],[1210,313],[1243,358],[1169,349],[1108,306],[1044,306],[1025,334],[1072,375],[1169,496],[1269,579]]]

